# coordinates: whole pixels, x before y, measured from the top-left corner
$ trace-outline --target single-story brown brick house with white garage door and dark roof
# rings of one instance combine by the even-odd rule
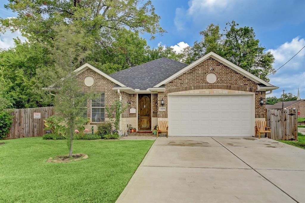
[[[88,101],[90,125],[107,120],[105,104],[121,99],[131,102],[121,130],[151,131],[168,120],[169,136],[252,136],[265,118],[260,98],[278,89],[213,52],[190,65],[160,58],[111,75],[88,63],[76,72],[82,91],[102,93]]]

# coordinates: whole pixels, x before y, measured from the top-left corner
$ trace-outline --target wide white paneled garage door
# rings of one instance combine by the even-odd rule
[[[169,95],[170,136],[252,136],[253,95]]]

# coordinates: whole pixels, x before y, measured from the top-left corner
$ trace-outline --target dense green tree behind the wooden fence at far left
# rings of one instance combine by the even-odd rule
[[[0,80],[2,98],[16,109],[46,106],[39,88],[44,76],[37,77],[37,68],[49,65],[49,55],[39,43],[21,43],[15,40],[15,47],[0,52]]]

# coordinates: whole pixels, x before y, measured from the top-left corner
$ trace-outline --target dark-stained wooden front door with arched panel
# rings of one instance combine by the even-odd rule
[[[138,130],[151,130],[151,94],[138,94]]]

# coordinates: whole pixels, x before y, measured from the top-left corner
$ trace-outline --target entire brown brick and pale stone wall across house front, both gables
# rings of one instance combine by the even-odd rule
[[[211,70],[212,68],[212,70]],[[206,75],[208,73],[214,73],[217,76],[215,83],[210,84],[206,81]],[[87,76],[94,78],[94,84],[91,87],[87,87],[84,84],[84,79]],[[78,74],[77,80],[82,87],[83,92],[94,91],[94,92],[105,92],[105,104],[110,106],[114,100],[119,99],[119,94],[112,88],[115,85],[112,81],[106,79],[99,73],[96,73],[92,69],[88,68],[82,73]],[[215,91],[215,92],[214,92]],[[188,92],[188,94],[196,93],[254,93],[255,94],[255,118],[265,118],[265,105],[261,106],[259,100],[262,97],[265,101],[265,91],[257,91],[257,84],[235,70],[225,66],[221,62],[213,58],[206,59],[197,66],[188,70],[181,76],[168,82],[165,85],[165,92],[158,92],[152,94],[152,127],[157,123],[157,120],[167,120],[167,109],[168,109],[168,94]],[[128,94],[122,92],[122,103],[127,105],[128,100],[131,102],[131,106],[122,114],[122,130],[125,131],[127,124],[132,124],[135,127],[137,124],[138,115],[137,113],[129,113],[130,108],[137,108],[138,94]],[[166,111],[159,112],[158,109],[162,107],[161,100],[164,100],[164,106]],[[158,102],[156,107],[155,102]],[[305,101],[303,101],[305,103]],[[305,105],[305,104],[304,104]],[[300,109],[300,112],[305,113],[305,107]],[[301,105],[300,105],[301,106]],[[91,101],[88,101],[87,115],[91,118]],[[305,115],[303,116],[305,117]],[[105,111],[105,119],[107,120],[108,115]],[[92,125],[95,123],[91,123]]]

